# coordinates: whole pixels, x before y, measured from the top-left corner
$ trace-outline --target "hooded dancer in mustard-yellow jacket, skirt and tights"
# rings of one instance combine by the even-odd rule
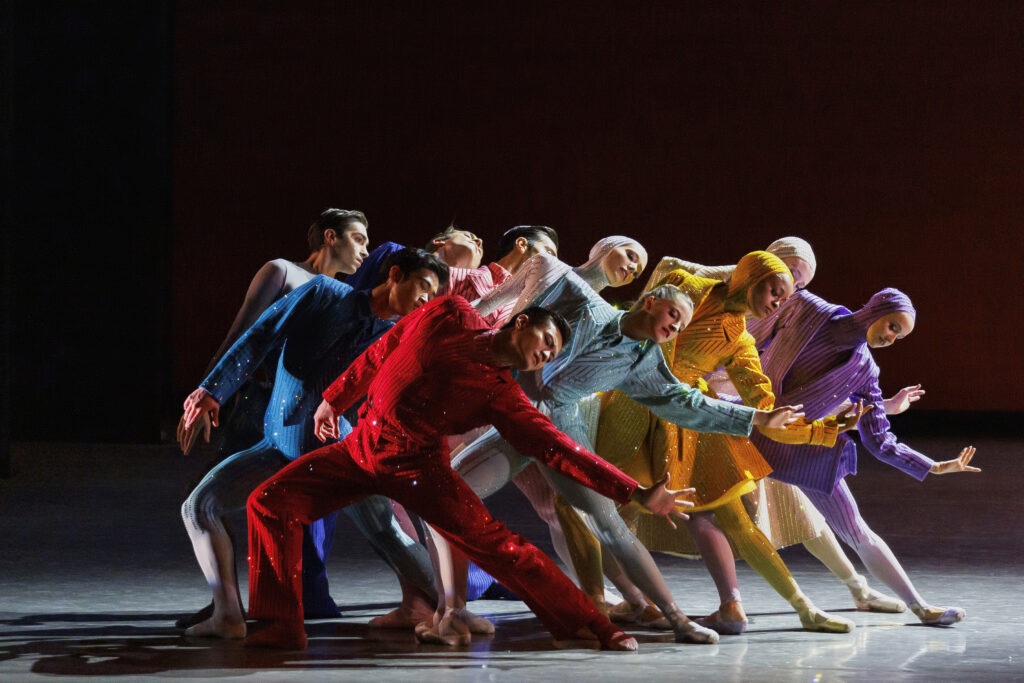
[[[676,377],[714,396],[702,378],[724,367],[744,403],[762,410],[773,405],[771,385],[761,372],[744,317],[748,312],[759,318],[770,315],[793,293],[793,275],[786,265],[767,252],[752,252],[736,265],[728,284],[695,278],[683,269],[673,270],[665,282],[687,292],[695,303],[690,325],[674,342],[663,346]],[[839,431],[853,427],[858,417],[855,410],[839,420],[806,422],[800,430],[791,425],[784,432],[774,430],[768,435],[790,443],[828,445]],[[686,531],[644,517],[638,519],[638,538],[648,548],[664,552],[691,549],[687,531],[699,537],[701,525],[711,524],[714,515],[740,556],[794,606],[805,628],[833,632],[852,628],[847,620],[814,609],[772,544],[748,515],[740,497],[771,472],[748,439],[679,429],[627,396],[610,393],[603,398],[596,450],[640,480],[657,481],[667,473],[670,487],[696,488],[697,514],[685,524]],[[578,535],[569,529],[566,533],[573,544]],[[581,557],[587,554],[579,553]],[[738,593],[734,597],[709,618],[711,628],[723,633],[745,629]]]

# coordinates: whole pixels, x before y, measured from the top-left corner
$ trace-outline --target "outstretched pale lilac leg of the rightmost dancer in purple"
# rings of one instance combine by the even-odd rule
[[[845,479],[828,495],[812,490],[804,493],[836,533],[853,548],[868,571],[904,600],[922,622],[945,626],[964,618],[964,610],[958,607],[932,607],[925,602],[889,546],[860,516],[857,502]]]

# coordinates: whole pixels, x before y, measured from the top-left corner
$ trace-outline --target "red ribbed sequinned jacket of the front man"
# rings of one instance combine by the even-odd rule
[[[508,368],[485,362],[495,334],[462,297],[434,299],[374,342],[324,398],[342,413],[368,394],[356,429],[411,455],[446,453],[445,435],[494,425],[522,455],[626,503],[637,482],[558,431]]]

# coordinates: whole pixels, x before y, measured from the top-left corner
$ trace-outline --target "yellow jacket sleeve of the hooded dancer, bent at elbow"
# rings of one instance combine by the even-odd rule
[[[770,411],[775,407],[775,394],[771,389],[771,380],[761,368],[761,357],[754,346],[754,337],[743,333],[738,341],[739,350],[726,365],[725,372],[746,405]],[[839,424],[831,417],[813,421],[801,418],[784,428],[758,427],[758,431],[781,443],[823,445],[830,449],[836,445]]]

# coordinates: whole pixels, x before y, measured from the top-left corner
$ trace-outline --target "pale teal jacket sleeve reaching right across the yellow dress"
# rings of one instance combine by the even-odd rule
[[[617,386],[650,412],[684,429],[749,436],[755,409],[711,398],[683,384],[669,370],[660,349]]]

